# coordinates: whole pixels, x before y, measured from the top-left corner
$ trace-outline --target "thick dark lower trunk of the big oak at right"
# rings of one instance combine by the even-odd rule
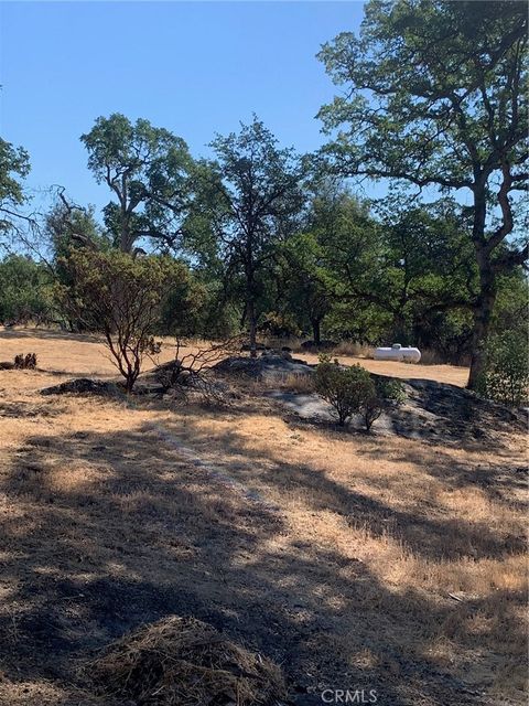
[[[474,307],[474,329],[472,334],[471,373],[467,387],[476,389],[487,364],[486,346],[494,303],[496,301],[495,274],[488,258],[478,258],[479,295]]]

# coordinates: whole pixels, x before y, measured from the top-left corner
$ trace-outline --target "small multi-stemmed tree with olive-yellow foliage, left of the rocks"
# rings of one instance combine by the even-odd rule
[[[153,334],[164,297],[188,278],[186,267],[169,257],[85,248],[72,250],[64,266],[73,284],[61,287],[63,302],[87,330],[102,332],[130,393],[145,356],[159,347]]]

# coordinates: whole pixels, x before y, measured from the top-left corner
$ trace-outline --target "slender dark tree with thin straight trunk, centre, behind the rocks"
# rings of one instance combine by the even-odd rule
[[[238,135],[217,137],[214,194],[205,204],[218,238],[226,277],[244,285],[251,355],[256,355],[262,276],[277,244],[292,233],[302,206],[301,168],[292,149],[279,149],[276,138],[257,118]]]

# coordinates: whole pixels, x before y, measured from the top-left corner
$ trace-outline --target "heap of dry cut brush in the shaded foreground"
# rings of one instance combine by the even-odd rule
[[[279,667],[194,618],[172,616],[110,644],[87,674],[138,706],[281,706]]]

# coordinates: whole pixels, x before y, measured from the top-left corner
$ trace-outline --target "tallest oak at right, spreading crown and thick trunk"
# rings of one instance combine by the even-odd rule
[[[523,3],[370,0],[359,36],[320,57],[346,90],[320,113],[333,168],[420,189],[467,190],[479,288],[469,387],[486,364],[498,274],[528,256],[517,242],[527,186],[527,12]]]

